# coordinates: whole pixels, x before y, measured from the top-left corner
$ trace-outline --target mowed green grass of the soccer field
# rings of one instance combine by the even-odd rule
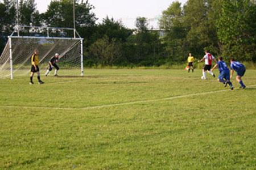
[[[42,76],[43,85],[0,79],[0,169],[255,169],[256,70],[246,71],[245,90],[207,75],[92,69]],[[161,100],[174,96],[183,97]]]

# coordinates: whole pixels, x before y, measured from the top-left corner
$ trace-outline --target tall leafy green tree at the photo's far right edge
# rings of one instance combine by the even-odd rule
[[[256,61],[255,16],[255,1],[226,0],[223,2],[218,21],[218,38],[224,57]]]

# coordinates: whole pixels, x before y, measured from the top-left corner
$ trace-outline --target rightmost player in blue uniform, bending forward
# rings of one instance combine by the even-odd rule
[[[230,59],[230,69],[231,69],[231,75],[230,75],[230,79],[232,79],[232,76],[233,76],[233,73],[234,73],[234,70],[237,71],[237,82],[239,82],[241,84],[241,87],[240,88],[245,88],[245,84],[243,84],[243,81],[242,81],[242,76],[245,75],[245,66],[242,65],[242,63],[238,62],[238,61],[234,61],[234,58],[231,58]]]

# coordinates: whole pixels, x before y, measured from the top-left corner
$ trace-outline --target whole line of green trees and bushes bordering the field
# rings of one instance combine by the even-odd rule
[[[256,62],[255,0],[172,2],[162,12],[161,31],[138,17],[135,29],[113,18],[97,23],[88,1],[75,1],[76,29],[84,38],[85,66],[160,66],[201,58],[204,50],[225,60]],[[19,0],[21,25],[73,27],[73,0],[53,0],[40,14],[34,0]],[[0,1],[0,52],[16,25],[16,0]]]

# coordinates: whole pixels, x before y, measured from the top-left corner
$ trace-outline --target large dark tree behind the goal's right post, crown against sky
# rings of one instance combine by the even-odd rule
[[[92,12],[93,8],[88,1],[75,0],[75,25],[77,32],[84,38],[85,49],[93,43],[92,35],[96,28],[97,18]],[[47,11],[42,14],[42,23],[50,27],[73,28],[73,0],[51,1]],[[66,34],[73,36],[70,31]]]

